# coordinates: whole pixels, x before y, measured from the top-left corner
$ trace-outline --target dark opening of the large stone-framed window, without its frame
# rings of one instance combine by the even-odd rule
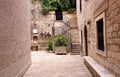
[[[96,22],[98,49],[104,51],[104,22],[103,18]]]

